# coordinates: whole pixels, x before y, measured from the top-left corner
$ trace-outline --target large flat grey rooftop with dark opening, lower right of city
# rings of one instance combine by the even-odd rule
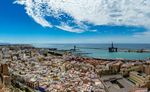
[[[101,79],[109,92],[129,92],[134,88],[134,84],[121,75],[103,76]]]

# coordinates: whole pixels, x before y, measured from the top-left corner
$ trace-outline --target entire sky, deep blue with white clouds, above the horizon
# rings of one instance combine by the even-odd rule
[[[0,43],[150,43],[149,0],[1,0]]]

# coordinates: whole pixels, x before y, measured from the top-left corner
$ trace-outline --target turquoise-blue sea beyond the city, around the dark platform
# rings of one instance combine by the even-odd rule
[[[129,60],[147,60],[150,59],[150,52],[137,53],[118,51],[110,53],[108,48],[110,44],[33,44],[35,47],[42,48],[57,48],[58,50],[70,50],[76,46],[76,53],[102,59],[129,59]],[[114,44],[118,50],[150,50],[150,44]]]

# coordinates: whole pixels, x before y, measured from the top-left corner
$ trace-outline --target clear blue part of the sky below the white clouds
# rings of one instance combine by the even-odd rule
[[[0,42],[2,43],[149,43],[149,29],[144,26],[116,25],[114,23],[95,25],[84,21],[88,29],[71,32],[59,28],[58,20],[48,16],[53,27],[43,27],[31,16],[24,6],[13,4],[15,0],[0,1]],[[64,16],[63,16],[64,17]],[[73,21],[69,17],[59,21]],[[70,22],[68,22],[70,23]],[[72,25],[74,22],[71,22]],[[71,24],[68,24],[71,25]],[[74,27],[74,26],[73,26]],[[76,25],[76,27],[80,27]],[[74,29],[76,31],[76,29]]]

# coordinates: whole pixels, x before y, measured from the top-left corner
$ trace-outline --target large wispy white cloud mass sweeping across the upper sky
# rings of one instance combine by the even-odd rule
[[[150,0],[17,0],[15,3],[24,5],[27,14],[44,27],[54,26],[45,16],[60,18],[62,12],[70,15],[78,29],[67,24],[56,27],[71,32],[87,30],[82,22],[146,28],[150,25]]]

